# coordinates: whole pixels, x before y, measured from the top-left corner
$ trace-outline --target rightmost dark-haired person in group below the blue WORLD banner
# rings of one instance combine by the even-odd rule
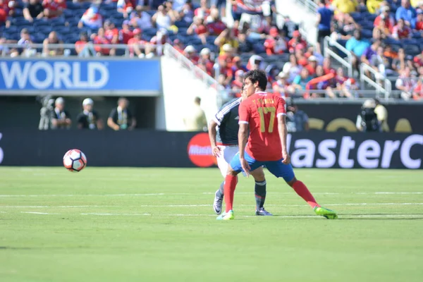
[[[113,130],[133,130],[137,125],[135,117],[128,109],[129,101],[126,98],[118,99],[118,106],[111,110],[107,125]]]

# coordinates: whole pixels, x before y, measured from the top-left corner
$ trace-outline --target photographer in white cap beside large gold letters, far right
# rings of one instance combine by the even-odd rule
[[[379,119],[377,118],[376,102],[374,99],[367,99],[362,104],[360,114],[357,116],[357,123],[355,126],[361,132],[381,132],[382,127]]]

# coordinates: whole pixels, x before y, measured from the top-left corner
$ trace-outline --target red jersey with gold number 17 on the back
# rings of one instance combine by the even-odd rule
[[[241,102],[239,123],[250,125],[246,152],[257,161],[282,159],[277,117],[286,115],[285,100],[278,94],[256,92]]]

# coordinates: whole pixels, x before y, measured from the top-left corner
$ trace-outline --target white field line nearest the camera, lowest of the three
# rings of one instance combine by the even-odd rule
[[[6,213],[6,212],[2,212]],[[40,215],[56,215],[47,212],[21,212],[23,214],[40,214]],[[89,213],[89,214],[79,214],[86,216],[153,216],[153,214],[111,214],[111,213]],[[155,214],[157,216],[216,216],[215,214]],[[341,219],[360,219],[360,218],[423,218],[423,214],[345,214],[340,215]],[[236,217],[257,217],[257,216],[236,216]],[[321,216],[312,216],[312,215],[286,215],[286,216],[274,216],[276,218],[282,219],[323,219]]]

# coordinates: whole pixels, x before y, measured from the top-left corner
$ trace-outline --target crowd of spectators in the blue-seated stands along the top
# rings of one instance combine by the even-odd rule
[[[423,97],[423,1],[412,6],[408,0],[317,3],[319,42],[326,36],[336,39],[353,53],[357,71],[364,62],[380,73],[376,81],[398,76],[395,85],[403,99]],[[245,71],[263,68],[269,88],[285,96],[302,90],[305,98],[360,97],[357,75],[348,78],[343,68],[333,69],[321,44],[310,46],[288,17],[276,25],[276,13],[274,1],[233,0],[234,23],[228,25],[224,0],[0,0],[0,44],[22,46],[0,45],[0,51],[6,56],[121,56],[125,49],[110,44],[128,44],[129,56],[151,58],[169,43],[235,94]],[[52,48],[59,43],[74,48]]]

